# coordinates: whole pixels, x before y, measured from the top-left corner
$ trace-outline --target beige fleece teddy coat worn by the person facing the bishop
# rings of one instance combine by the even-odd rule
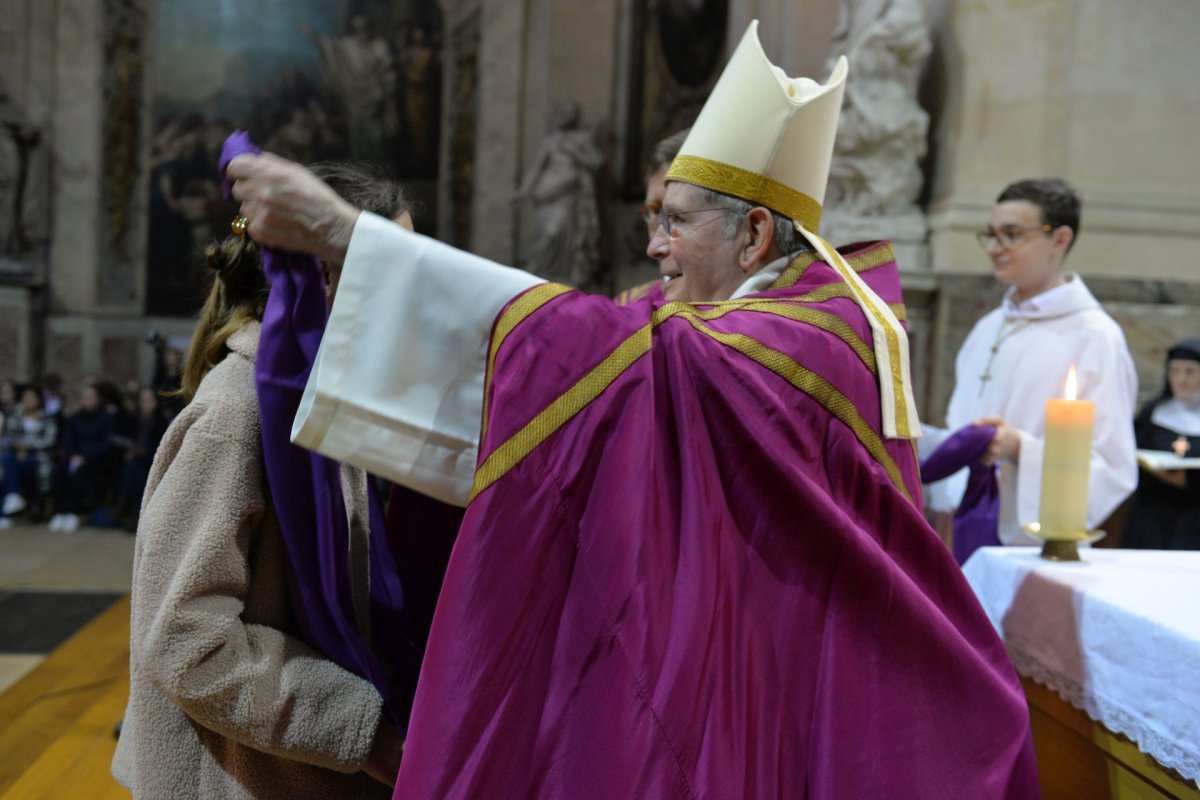
[[[154,800],[389,798],[359,771],[378,692],[293,634],[264,493],[258,332],[252,324],[229,337],[230,354],[172,423],[150,470],[113,775]],[[352,551],[362,547],[365,504],[353,517]],[[366,579],[358,587],[361,595]]]

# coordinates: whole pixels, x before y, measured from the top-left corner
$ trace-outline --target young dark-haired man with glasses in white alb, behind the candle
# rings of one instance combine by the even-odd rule
[[[947,429],[925,426],[923,456],[949,433],[996,426],[989,457],[1000,467],[1000,541],[1036,545],[1021,525],[1038,521],[1045,402],[1062,397],[1075,367],[1079,398],[1096,403],[1087,524],[1094,528],[1138,485],[1133,411],[1138,393],[1124,335],[1082,278],[1063,269],[1079,234],[1080,201],[1058,179],[1012,184],[996,199],[979,242],[1008,284],[1000,307],[971,330],[955,360]],[[962,498],[966,470],[930,487],[934,511]]]

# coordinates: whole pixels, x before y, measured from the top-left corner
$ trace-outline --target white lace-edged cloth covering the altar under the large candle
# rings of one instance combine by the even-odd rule
[[[985,547],[962,566],[1016,670],[1200,782],[1200,552]]]

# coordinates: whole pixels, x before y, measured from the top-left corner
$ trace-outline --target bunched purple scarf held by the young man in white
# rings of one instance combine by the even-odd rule
[[[979,462],[996,437],[990,425],[968,425],[955,431],[929,458],[920,463],[920,477],[926,483],[941,481],[964,467],[967,488],[954,512],[954,560],[965,564],[980,547],[1000,545],[1000,485],[996,467]]]

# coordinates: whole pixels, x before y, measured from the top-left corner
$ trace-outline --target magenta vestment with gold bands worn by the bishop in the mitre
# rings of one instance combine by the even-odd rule
[[[502,312],[397,800],[1038,796],[840,283]]]

